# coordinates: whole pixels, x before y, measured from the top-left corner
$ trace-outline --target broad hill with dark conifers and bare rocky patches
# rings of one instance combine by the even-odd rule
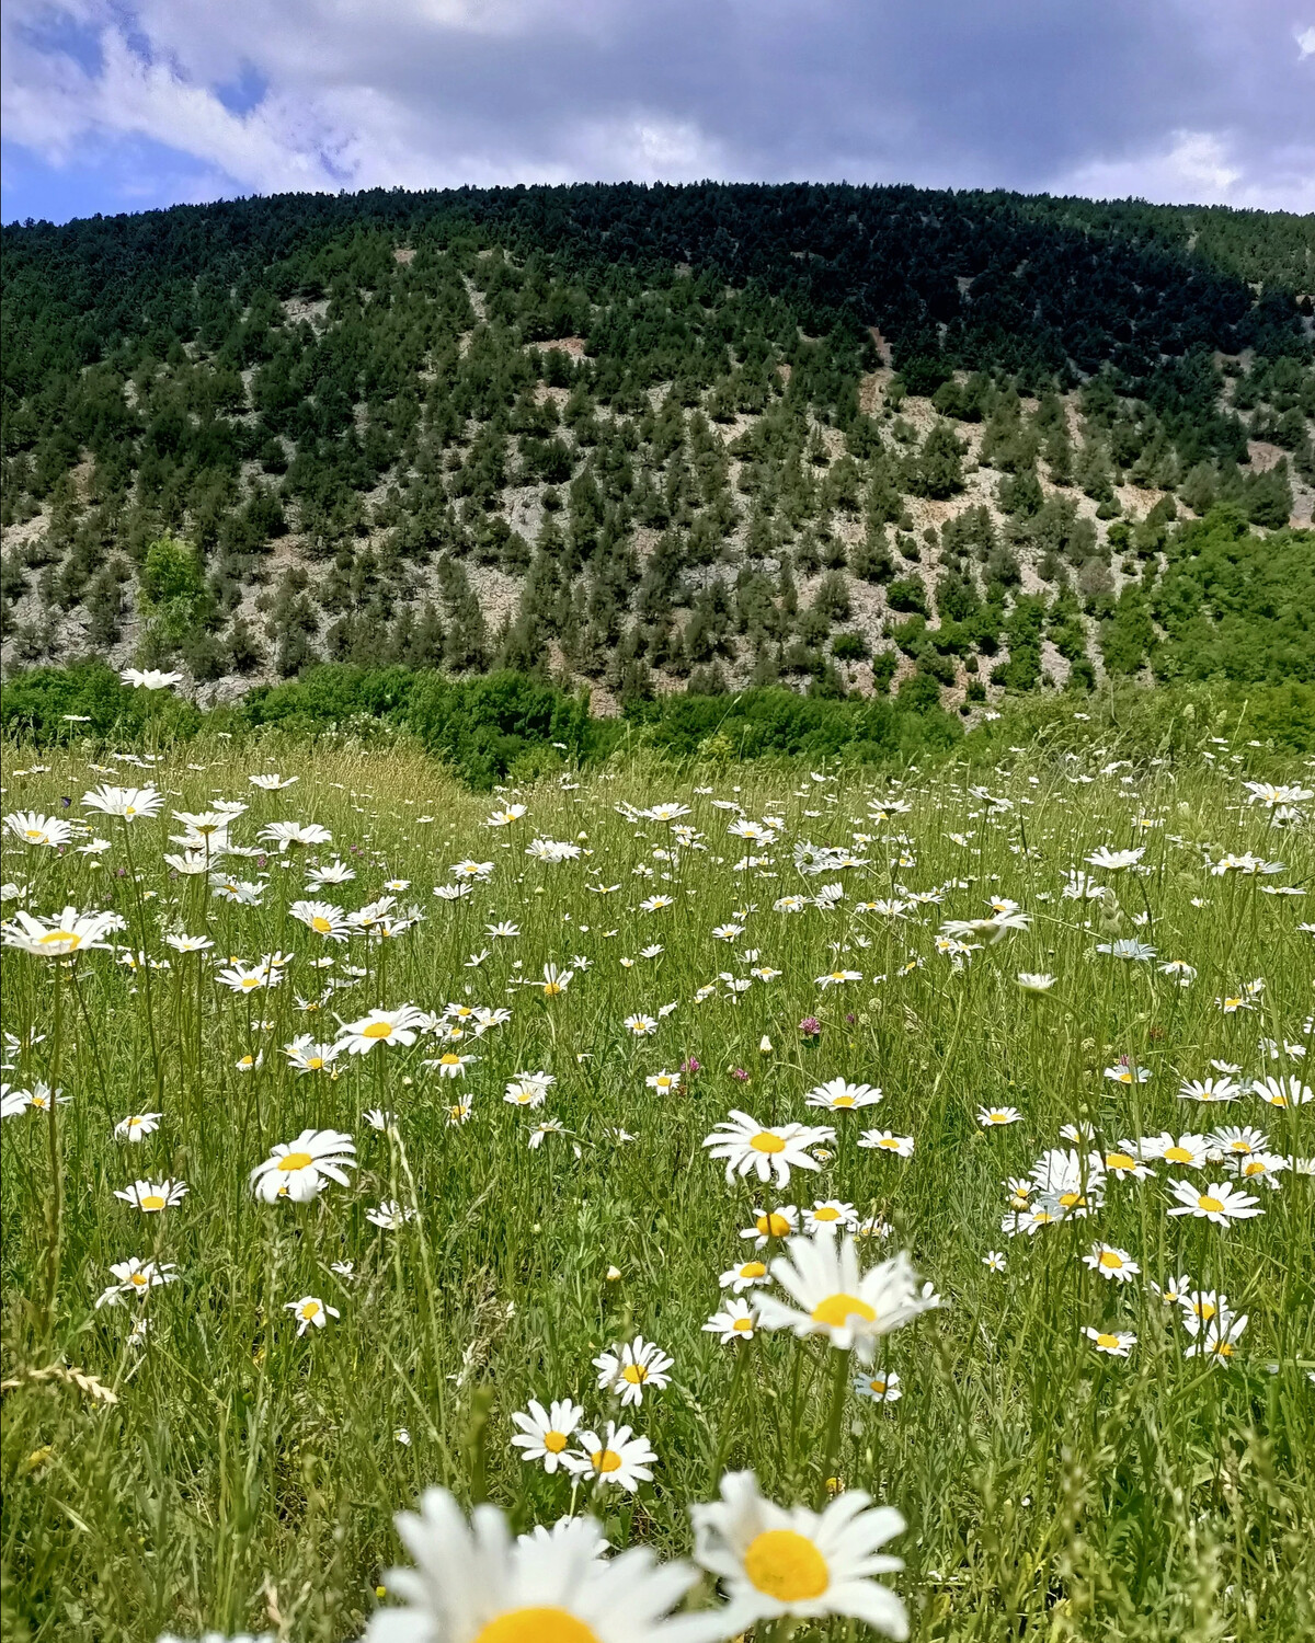
[[[3,276],[7,667],[1315,677],[1310,217],[284,196],[7,227]]]

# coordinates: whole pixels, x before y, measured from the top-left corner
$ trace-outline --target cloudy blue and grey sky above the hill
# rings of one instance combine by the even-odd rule
[[[5,0],[0,217],[848,181],[1315,212],[1315,0]]]

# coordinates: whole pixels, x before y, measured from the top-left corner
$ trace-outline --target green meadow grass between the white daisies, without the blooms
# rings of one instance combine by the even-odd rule
[[[263,794],[247,780],[263,759],[201,739],[150,777],[122,767],[122,780],[150,779],[168,795],[161,817],[133,823],[81,810],[82,792],[104,779],[87,754],[43,752],[49,767],[33,772],[36,756],[20,751],[5,812],[61,815],[67,795],[67,813],[99,823],[110,849],[59,854],[7,835],[3,877],[23,887],[7,915],[117,909],[130,928],[113,940],[171,968],[135,974],[89,951],[58,974],[48,960],[5,953],[3,1025],[25,1042],[5,1076],[31,1088],[54,1075],[72,1098],[54,1125],[39,1111],[3,1124],[7,1635],[358,1636],[398,1559],[393,1513],[424,1487],[445,1484],[467,1500],[487,1492],[518,1528],[587,1505],[564,1474],[519,1461],[510,1416],[531,1397],[567,1395],[592,1418],[616,1415],[590,1360],[636,1332],[676,1365],[671,1385],[626,1415],[659,1462],[638,1495],[597,1502],[613,1544],[685,1553],[687,1507],[715,1493],[718,1452],[753,1466],[774,1498],[814,1500],[830,1347],[784,1332],[723,1347],[702,1324],[723,1300],[718,1273],[745,1259],[736,1232],[753,1204],[840,1198],[893,1229],[865,1259],[907,1249],[947,1303],[886,1337],[878,1362],[899,1374],[902,1398],[847,1405],[830,1466],[907,1518],[888,1549],[907,1562],[893,1584],[914,1638],[1308,1636],[1315,1178],[1289,1170],[1277,1191],[1256,1188],[1264,1214],[1220,1231],[1169,1217],[1167,1180],[1188,1171],[1160,1163],[1154,1180],[1110,1180],[1091,1219],[1036,1237],[1001,1231],[1004,1180],[1067,1145],[1065,1124],[1090,1122],[1105,1150],[1225,1122],[1264,1129],[1276,1153],[1312,1152],[1315,1104],[1280,1111],[1248,1094],[1203,1109],[1177,1094],[1211,1058],[1300,1073],[1294,1056],[1266,1060],[1261,1040],[1312,1038],[1315,946],[1299,930],[1315,917],[1312,900],[1264,894],[1310,886],[1310,828],[1276,828],[1244,803],[1254,756],[1244,734],[1208,751],[1213,767],[1170,757],[1110,769],[1108,748],[1091,744],[1001,749],[994,771],[914,769],[899,789],[861,769],[815,766],[828,777],[815,780],[807,767],[672,774],[633,762],[514,794],[528,815],[505,830],[482,826],[487,795],[406,748],[288,744],[278,767],[299,782]],[[1295,759],[1285,774],[1308,777]],[[970,780],[1013,808],[970,795]],[[896,795],[907,815],[868,820],[870,803]],[[210,899],[204,879],[173,876],[163,853],[179,831],[169,810],[204,810],[212,797],[250,805],[233,826],[243,845],[276,818],[325,825],[332,846],[311,859],[340,853],[355,881],[307,892],[307,853],[275,854],[263,868],[230,863],[242,877],[268,877],[261,907]],[[615,810],[671,798],[690,805],[684,820],[707,851],[654,858],[671,851],[671,828]],[[756,851],[769,864],[733,871],[751,846],[727,836],[730,812],[713,798],[784,818],[782,840]],[[866,868],[799,877],[796,841],[853,848],[855,831],[873,840],[860,848]],[[542,864],[524,854],[534,836],[577,840],[590,854]],[[1146,876],[1096,874],[1123,902],[1114,918],[1101,902],[1060,895],[1067,869],[1091,849],[1131,843],[1146,845]],[[1285,871],[1208,872],[1208,859],[1246,849]],[[907,866],[894,864],[901,853]],[[436,900],[432,887],[464,858],[491,859],[491,881],[462,902]],[[339,948],[286,915],[306,894],[360,907],[393,876],[411,881],[398,900],[426,915],[396,940],[357,935]],[[837,910],[773,912],[777,897],[835,881],[845,886]],[[592,882],[620,887],[590,894]],[[942,886],[942,907],[906,918],[856,910],[899,887]],[[674,905],[639,912],[653,892]],[[1031,928],[955,969],[935,951],[940,920],[976,917],[991,895],[1019,902]],[[713,927],[731,918],[743,935],[715,940]],[[488,940],[495,920],[514,920],[521,935]],[[225,960],[296,958],[283,986],[238,997],[215,981],[210,955],[168,950],[169,930],[207,930]],[[1116,935],[1185,960],[1195,979],[1182,987],[1152,963],[1096,951]],[[651,943],[662,953],[639,958]],[[465,968],[483,948],[490,956]],[[738,996],[718,984],[695,1002],[718,973],[748,974],[746,948],[781,974]],[[592,968],[559,997],[514,986],[575,955]],[[335,968],[312,971],[319,956]],[[365,974],[302,1014],[298,996],[350,979],[348,964]],[[815,978],[837,966],[863,981],[820,989]],[[1017,987],[1019,971],[1059,979],[1034,997]],[[1218,1007],[1256,978],[1266,983],[1256,1007]],[[301,1032],[332,1038],[332,1010],[352,1020],[406,1001],[506,1006],[511,1020],[465,1047],[478,1060],[460,1081],[422,1070],[432,1040],[342,1056],[337,1078],[288,1068],[279,1047]],[[626,1015],[671,1002],[656,1035],[626,1032]],[[807,1015],[820,1020],[815,1040],[801,1037]],[[28,1047],[33,1033],[44,1038]],[[251,1052],[263,1053],[260,1066],[238,1071]],[[1105,1078],[1119,1056],[1149,1081]],[[646,1075],[689,1060],[700,1070],[679,1094],[646,1088]],[[557,1079],[544,1107],[508,1106],[505,1083],[539,1068]],[[884,1099],[861,1114],[804,1106],[810,1088],[842,1075],[879,1084]],[[449,1106],[462,1094],[473,1116],[454,1125]],[[1022,1122],[981,1129],[988,1102],[1019,1107]],[[398,1114],[396,1142],[367,1124],[368,1107]],[[782,1194],[727,1186],[700,1144],[731,1107],[768,1124],[832,1121],[833,1155],[817,1175],[796,1171]],[[140,1145],[115,1140],[115,1122],[143,1111],[164,1112],[159,1130]],[[569,1134],[531,1150],[528,1132],[544,1116]],[[307,1125],[355,1137],[352,1185],[306,1206],[256,1203],[250,1170]],[[860,1150],[856,1135],[871,1125],[912,1135],[912,1158]],[[618,1142],[618,1127],[633,1139]],[[113,1196],[136,1176],[181,1178],[189,1191],[145,1216]],[[367,1211],[385,1198],[413,1204],[416,1219],[398,1232],[371,1226]],[[1093,1239],[1131,1252],[1141,1277],[1116,1285],[1091,1273],[1082,1255]],[[993,1249],[1008,1257],[1003,1273],[983,1265]],[[176,1262],[178,1282],[141,1305],[97,1309],[110,1262],[128,1255]],[[342,1278],[332,1267],[347,1260],[353,1277]],[[1192,1341],[1179,1309],[1151,1286],[1182,1272],[1249,1318],[1226,1367],[1184,1355]],[[342,1316],[298,1339],[284,1303],[307,1293]],[[132,1342],[140,1316],[148,1334]],[[1085,1324],[1134,1331],[1131,1357],[1096,1354]],[[51,1365],[97,1377],[115,1401],[95,1385],[41,1378]],[[835,1622],[796,1638],[856,1635]]]

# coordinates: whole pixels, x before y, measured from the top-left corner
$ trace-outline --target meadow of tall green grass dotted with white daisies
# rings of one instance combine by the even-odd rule
[[[1091,729],[12,749],[7,1636],[1315,1635],[1315,784]]]

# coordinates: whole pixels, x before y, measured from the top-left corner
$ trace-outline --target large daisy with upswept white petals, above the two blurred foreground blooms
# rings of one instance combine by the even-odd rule
[[[929,1309],[904,1254],[861,1273],[850,1236],[792,1237],[787,1249],[787,1255],[771,1263],[771,1275],[797,1305],[759,1295],[758,1316],[764,1329],[825,1336],[837,1351],[853,1349],[866,1364],[879,1336]]]

